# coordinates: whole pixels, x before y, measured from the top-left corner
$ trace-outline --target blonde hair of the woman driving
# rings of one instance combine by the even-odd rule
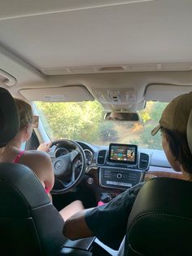
[[[33,123],[33,111],[30,104],[22,99],[15,99],[16,108],[20,117],[20,130]]]

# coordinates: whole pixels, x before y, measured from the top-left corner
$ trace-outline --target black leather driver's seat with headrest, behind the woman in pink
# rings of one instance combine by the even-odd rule
[[[11,94],[0,88],[0,148],[13,139],[19,117]],[[66,238],[63,218],[26,166],[0,163],[0,254],[57,255]]]

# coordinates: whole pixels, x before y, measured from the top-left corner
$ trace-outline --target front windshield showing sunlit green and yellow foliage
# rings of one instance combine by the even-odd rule
[[[161,148],[160,133],[151,136],[167,104],[147,102],[138,112],[139,122],[103,121],[104,109],[97,100],[80,103],[36,102],[37,111],[51,140],[81,140],[95,145],[133,143],[140,148]]]

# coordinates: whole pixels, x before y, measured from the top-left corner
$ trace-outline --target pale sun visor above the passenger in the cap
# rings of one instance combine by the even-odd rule
[[[175,85],[155,85],[151,84],[146,87],[144,98],[148,100],[156,100],[160,102],[170,102],[175,97],[188,93],[192,90],[191,86],[175,86]]]

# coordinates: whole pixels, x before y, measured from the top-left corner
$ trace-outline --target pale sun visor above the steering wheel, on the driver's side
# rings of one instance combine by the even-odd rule
[[[85,86],[22,89],[20,94],[28,101],[79,102],[94,100]]]

